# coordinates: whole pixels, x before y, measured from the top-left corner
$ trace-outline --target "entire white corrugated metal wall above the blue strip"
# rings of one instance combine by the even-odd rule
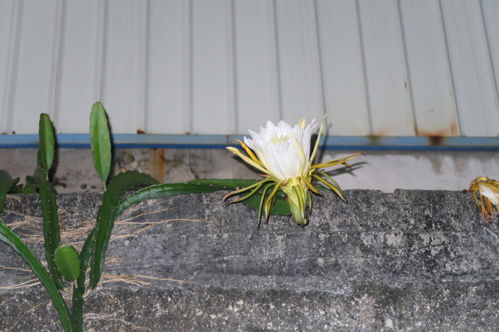
[[[0,0],[0,132],[499,135],[498,0]]]

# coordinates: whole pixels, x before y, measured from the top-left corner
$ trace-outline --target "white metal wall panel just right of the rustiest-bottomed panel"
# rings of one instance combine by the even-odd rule
[[[481,3],[442,0],[442,10],[462,135],[497,137],[497,87]]]

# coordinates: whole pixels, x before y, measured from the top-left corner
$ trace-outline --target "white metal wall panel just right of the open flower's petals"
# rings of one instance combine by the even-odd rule
[[[355,1],[317,1],[328,135],[370,134],[363,48]],[[352,121],[354,119],[354,121]]]

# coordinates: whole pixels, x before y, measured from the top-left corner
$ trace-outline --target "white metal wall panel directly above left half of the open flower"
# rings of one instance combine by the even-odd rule
[[[259,114],[281,119],[274,12],[272,1],[234,2],[238,133],[265,126]]]

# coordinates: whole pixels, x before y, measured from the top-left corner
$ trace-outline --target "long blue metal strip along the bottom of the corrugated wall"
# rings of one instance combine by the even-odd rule
[[[241,135],[114,134],[116,148],[223,149],[238,146]],[[57,134],[60,148],[89,148],[88,134]],[[326,150],[499,151],[497,137],[367,137],[321,138]],[[0,135],[0,148],[37,148],[38,135]]]

